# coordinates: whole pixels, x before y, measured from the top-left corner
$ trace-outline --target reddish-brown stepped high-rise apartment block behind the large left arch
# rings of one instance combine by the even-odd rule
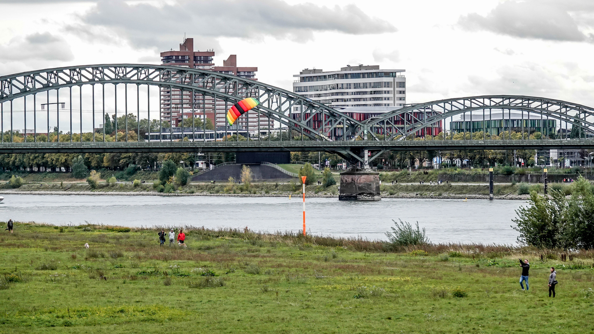
[[[219,72],[223,74],[236,75],[238,77],[257,80],[255,73],[257,67],[238,67],[237,56],[229,55],[229,58],[223,61],[223,66],[214,66],[214,51],[194,51],[194,39],[187,38],[184,43],[179,45],[179,51],[161,52],[161,61],[163,65],[173,65],[189,68],[202,68],[208,71]],[[233,94],[235,92],[230,92]],[[161,117],[163,121],[170,121],[173,127],[178,126],[182,118],[191,118],[192,109],[194,116],[198,118],[210,119],[213,124],[219,127],[226,127],[225,102],[217,99],[216,106],[211,96],[203,96],[195,93],[192,98],[192,92],[184,91],[182,94],[179,89],[170,89],[163,87],[161,89]],[[232,103],[228,103],[228,107]],[[215,108],[216,107],[216,108]],[[255,130],[258,124],[258,113],[251,112],[248,115],[242,115],[238,119],[239,127],[245,128],[249,124],[249,130]],[[247,117],[249,117],[249,122]],[[260,116],[263,122],[266,117]],[[265,123],[263,123],[265,124]]]

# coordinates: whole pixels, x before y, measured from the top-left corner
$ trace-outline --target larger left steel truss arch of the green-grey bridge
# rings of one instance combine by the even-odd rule
[[[256,97],[260,105],[252,110],[267,116],[272,124],[285,125],[314,140],[336,140],[340,139],[341,134],[344,139],[347,131],[356,133],[362,126],[361,122],[326,105],[259,81],[197,68],[165,65],[83,65],[5,75],[0,77],[0,103],[4,107],[4,102],[32,94],[97,84],[103,87],[106,84],[169,87],[192,92],[192,96],[197,93],[231,104],[245,97]],[[293,112],[296,106],[299,106],[298,113]],[[195,109],[194,103],[191,108]],[[82,106],[80,109],[82,122]],[[226,110],[220,112],[226,113]]]

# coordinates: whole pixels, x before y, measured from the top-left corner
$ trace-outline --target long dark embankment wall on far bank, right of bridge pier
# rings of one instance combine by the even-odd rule
[[[562,182],[564,178],[577,179],[579,174],[549,174],[549,182]],[[594,181],[594,175],[586,174],[584,178]],[[450,174],[440,173],[438,179],[449,182],[489,182],[489,174]],[[530,183],[542,183],[544,182],[544,176],[542,174],[525,174],[525,175],[494,175],[493,181],[495,183],[510,183],[515,182],[530,182]]]

